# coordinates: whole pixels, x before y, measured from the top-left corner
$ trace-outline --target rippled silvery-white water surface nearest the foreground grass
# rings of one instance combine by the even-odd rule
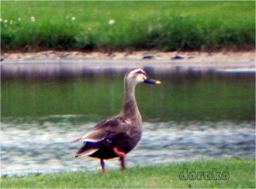
[[[99,160],[73,158],[81,144],[69,142],[95,123],[76,116],[33,119],[2,118],[1,174],[100,170]],[[255,124],[233,122],[144,123],[143,137],[127,155],[127,167],[172,163],[186,159],[255,156]],[[118,159],[106,161],[119,168]]]

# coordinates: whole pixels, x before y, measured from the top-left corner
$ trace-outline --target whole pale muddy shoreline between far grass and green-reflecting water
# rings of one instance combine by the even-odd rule
[[[245,52],[58,52],[3,53],[1,75],[79,75],[144,68],[157,72],[255,73],[255,51]]]

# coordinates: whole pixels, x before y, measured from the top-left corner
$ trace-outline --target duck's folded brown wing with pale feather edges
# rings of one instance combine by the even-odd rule
[[[98,142],[106,138],[111,132],[127,132],[130,127],[130,120],[123,116],[117,116],[109,120],[103,120],[98,123],[91,131],[83,137],[78,138],[74,142]]]

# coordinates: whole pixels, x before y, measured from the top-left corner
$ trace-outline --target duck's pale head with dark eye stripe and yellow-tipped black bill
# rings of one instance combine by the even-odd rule
[[[128,72],[125,76],[126,83],[133,83],[135,85],[139,83],[147,84],[161,84],[159,80],[151,79],[147,76],[146,72],[142,69],[135,69]]]

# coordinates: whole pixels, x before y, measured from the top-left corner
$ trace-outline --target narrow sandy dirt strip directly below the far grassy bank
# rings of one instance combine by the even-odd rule
[[[176,56],[183,59],[175,59]],[[151,60],[182,60],[183,62],[253,62],[255,61],[255,51],[245,52],[157,52],[157,51],[137,51],[137,52],[58,52],[44,51],[34,53],[3,53],[1,58],[5,61],[15,60],[35,60],[35,59],[53,59],[53,60],[70,60],[84,59],[86,60],[141,60],[143,57]]]

